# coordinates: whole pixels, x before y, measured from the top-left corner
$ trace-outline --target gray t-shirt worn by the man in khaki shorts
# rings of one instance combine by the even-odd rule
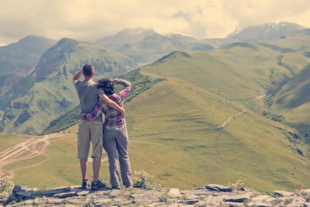
[[[97,87],[97,83],[76,81],[74,83],[75,89],[80,99],[82,111],[89,114],[94,109],[99,101],[99,95],[103,92],[102,88]],[[99,116],[96,121],[103,121],[102,116]]]

